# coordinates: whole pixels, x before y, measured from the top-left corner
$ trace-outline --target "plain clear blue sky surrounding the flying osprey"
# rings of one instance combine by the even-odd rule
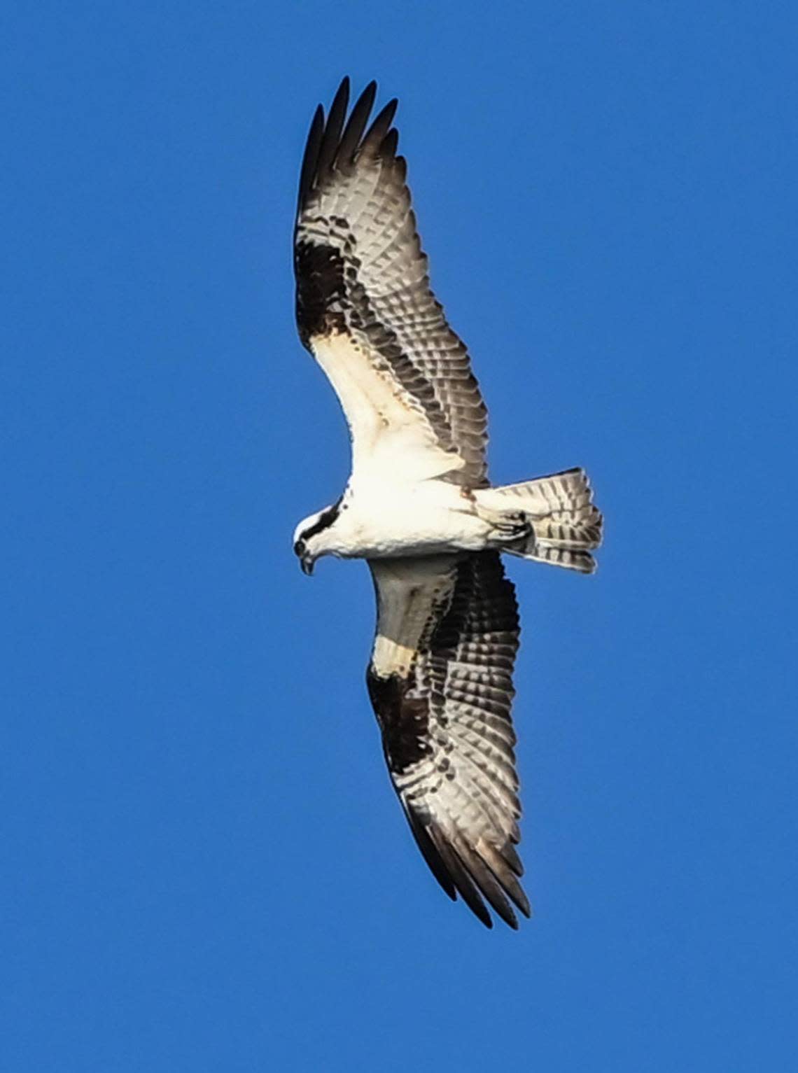
[[[0,324],[15,1073],[794,1068],[795,11],[13,5]],[[511,562],[535,916],[405,829],[349,445],[293,321],[313,107],[400,98],[497,482],[583,465],[594,578]]]

